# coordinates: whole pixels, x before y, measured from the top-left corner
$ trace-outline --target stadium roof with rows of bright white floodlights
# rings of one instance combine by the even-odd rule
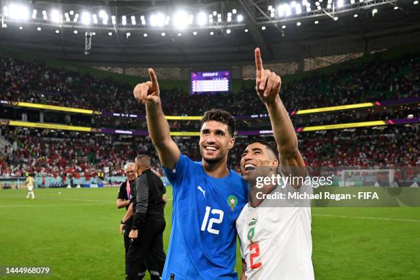
[[[1,45],[96,66],[244,65],[256,46],[265,61],[299,62],[420,42],[415,0],[1,0],[1,7]]]

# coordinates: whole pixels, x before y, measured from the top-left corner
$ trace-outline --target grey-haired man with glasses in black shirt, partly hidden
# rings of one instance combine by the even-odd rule
[[[124,172],[126,173],[127,180],[121,183],[118,191],[117,197],[117,208],[121,209],[128,207],[131,202],[131,187],[134,185],[136,180],[136,172],[135,172],[135,163],[126,163],[124,165]],[[130,246],[130,238],[128,238],[128,233],[130,233],[132,227],[132,218],[126,220],[125,223],[121,222],[119,226],[120,233],[124,236],[124,248],[125,248],[125,258],[127,257],[128,247]],[[127,263],[126,263],[126,274],[127,274]]]

